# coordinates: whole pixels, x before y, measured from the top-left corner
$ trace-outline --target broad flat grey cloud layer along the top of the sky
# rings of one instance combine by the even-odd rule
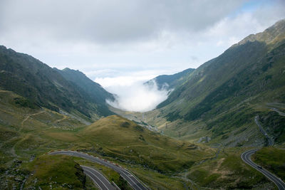
[[[61,42],[133,43],[156,38],[165,30],[202,30],[237,9],[243,2],[2,0],[0,27],[6,30],[0,33],[16,31],[19,37],[29,38],[33,34],[33,38],[44,36]]]

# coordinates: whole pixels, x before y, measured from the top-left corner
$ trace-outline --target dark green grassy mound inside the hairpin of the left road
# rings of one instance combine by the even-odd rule
[[[86,186],[86,176],[83,169],[65,155],[43,155],[37,157],[26,167],[30,175],[25,188],[41,187],[41,189],[83,189]]]

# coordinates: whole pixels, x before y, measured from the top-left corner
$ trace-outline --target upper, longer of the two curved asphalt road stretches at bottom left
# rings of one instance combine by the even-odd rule
[[[124,169],[123,167],[120,167],[119,165],[113,164],[108,162],[107,160],[100,159],[98,157],[90,156],[89,154],[85,154],[83,152],[76,152],[76,151],[57,151],[57,152],[51,152],[49,154],[66,154],[74,157],[81,157],[84,159],[89,159],[92,162],[96,162],[98,164],[102,164],[105,167],[109,167],[115,171],[117,171],[123,178],[128,181],[130,186],[133,187],[135,190],[147,190],[147,187],[145,184],[142,184],[142,182],[137,179],[133,174],[130,173],[127,169]]]

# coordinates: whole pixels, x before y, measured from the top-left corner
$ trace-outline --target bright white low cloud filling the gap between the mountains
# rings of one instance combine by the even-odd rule
[[[116,95],[114,102],[107,101],[111,106],[121,110],[147,112],[155,109],[160,102],[167,99],[169,90],[158,90],[156,83],[143,85],[143,83],[155,78],[160,73],[167,73],[167,71],[142,70],[128,76],[95,78],[95,82],[102,85],[108,92]]]

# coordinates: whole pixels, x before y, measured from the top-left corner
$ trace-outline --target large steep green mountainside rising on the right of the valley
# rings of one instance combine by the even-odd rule
[[[254,116],[266,117],[270,112],[268,103],[285,102],[284,52],[282,20],[262,33],[244,38],[187,75],[187,81],[177,85],[157,106],[158,110],[146,114],[152,119],[159,115],[155,121],[147,122],[172,137],[199,139],[199,135],[207,134],[229,144],[248,139],[254,135],[249,133],[256,126]],[[242,133],[245,137],[233,139],[234,132],[242,132],[242,127],[246,127],[243,130],[247,134]],[[276,141],[283,139],[285,132],[280,129],[272,132]]]

